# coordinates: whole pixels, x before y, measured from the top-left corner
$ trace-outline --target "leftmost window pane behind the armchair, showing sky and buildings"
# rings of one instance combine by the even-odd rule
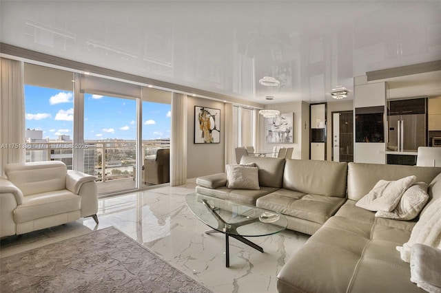
[[[25,64],[26,162],[59,160],[73,168],[72,72]]]

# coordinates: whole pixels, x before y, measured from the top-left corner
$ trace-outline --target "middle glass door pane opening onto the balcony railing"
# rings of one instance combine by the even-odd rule
[[[136,99],[84,94],[84,170],[98,193],[136,188]]]

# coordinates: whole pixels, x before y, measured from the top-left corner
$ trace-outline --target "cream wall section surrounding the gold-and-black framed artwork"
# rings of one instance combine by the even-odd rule
[[[194,106],[220,109],[220,143],[194,144]],[[187,115],[187,178],[223,172],[225,170],[224,103],[189,97]]]

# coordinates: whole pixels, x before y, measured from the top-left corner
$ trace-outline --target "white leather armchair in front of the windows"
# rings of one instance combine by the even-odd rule
[[[68,171],[60,161],[8,164],[0,178],[0,237],[93,217],[98,224],[95,177]]]

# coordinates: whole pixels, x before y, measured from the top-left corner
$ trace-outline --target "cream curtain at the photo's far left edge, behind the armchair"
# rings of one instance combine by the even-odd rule
[[[25,107],[23,62],[0,58],[0,169],[25,162]]]

